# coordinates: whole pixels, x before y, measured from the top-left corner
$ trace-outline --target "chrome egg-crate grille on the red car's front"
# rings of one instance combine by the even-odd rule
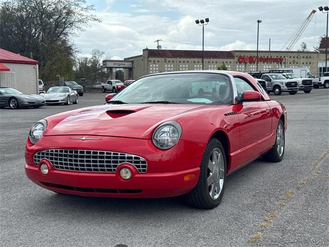
[[[115,172],[120,164],[131,164],[139,173],[148,169],[146,160],[140,156],[108,151],[48,149],[34,153],[34,165],[45,158],[57,170],[80,172]]]

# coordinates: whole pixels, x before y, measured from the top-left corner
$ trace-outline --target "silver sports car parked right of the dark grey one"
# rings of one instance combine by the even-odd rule
[[[78,103],[77,91],[71,90],[68,86],[53,86],[47,93],[41,94],[46,99],[46,104],[74,104]]]

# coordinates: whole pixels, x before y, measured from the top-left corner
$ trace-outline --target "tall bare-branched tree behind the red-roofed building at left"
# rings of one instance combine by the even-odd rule
[[[0,4],[1,47],[39,61],[44,80],[71,77],[70,38],[90,21],[100,21],[93,9],[84,0],[7,0]]]

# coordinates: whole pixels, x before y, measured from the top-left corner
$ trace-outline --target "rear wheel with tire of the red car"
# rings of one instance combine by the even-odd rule
[[[280,162],[284,155],[285,135],[283,121],[280,119],[277,128],[277,138],[274,146],[262,157],[264,161]]]

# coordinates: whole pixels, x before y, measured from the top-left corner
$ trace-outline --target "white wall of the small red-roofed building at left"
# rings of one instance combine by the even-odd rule
[[[38,65],[3,63],[16,75],[15,89],[24,94],[38,94]]]

